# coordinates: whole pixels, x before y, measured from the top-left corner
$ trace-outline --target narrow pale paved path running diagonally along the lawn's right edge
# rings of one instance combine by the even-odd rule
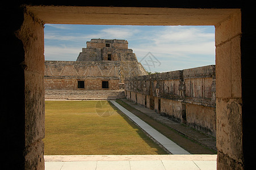
[[[163,147],[166,148],[173,155],[187,155],[190,154],[182,147],[178,146],[176,143],[159,133],[156,129],[152,128],[146,122],[142,121],[139,117],[135,116],[135,114],[129,112],[127,109],[122,107],[120,104],[116,103],[114,100],[110,100],[112,104],[114,104],[121,112],[126,114],[135,124],[140,126],[146,133],[148,133],[152,138],[154,138],[158,143],[160,143]]]

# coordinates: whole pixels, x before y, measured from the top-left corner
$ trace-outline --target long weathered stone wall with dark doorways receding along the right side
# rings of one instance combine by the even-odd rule
[[[215,65],[125,79],[125,96],[216,137]]]

